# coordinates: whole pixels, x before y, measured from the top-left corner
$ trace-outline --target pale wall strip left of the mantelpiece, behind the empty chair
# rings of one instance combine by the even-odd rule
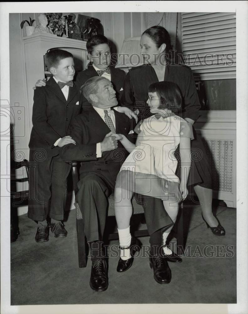
[[[9,14],[9,57],[10,57],[10,107],[11,123],[14,125],[8,154],[12,154],[13,159],[20,161],[29,159],[28,143],[29,138],[26,134],[29,127],[28,113],[26,111],[26,75],[24,68],[24,58],[22,49],[22,36],[26,35],[25,30],[21,30],[20,23],[23,19],[34,18],[34,14]],[[35,82],[34,82],[35,84]],[[8,159],[10,160],[10,158]],[[24,168],[16,171],[19,178],[26,177]],[[26,190],[27,182],[17,183],[17,191]],[[18,208],[18,214],[27,212],[27,207]]]

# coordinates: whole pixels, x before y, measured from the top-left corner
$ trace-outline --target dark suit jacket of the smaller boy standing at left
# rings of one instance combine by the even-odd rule
[[[42,148],[47,156],[59,154],[59,147],[53,144],[58,138],[68,135],[71,119],[78,115],[81,109],[80,93],[75,86],[69,87],[66,100],[59,85],[50,78],[45,87],[34,90],[34,105],[29,148]]]

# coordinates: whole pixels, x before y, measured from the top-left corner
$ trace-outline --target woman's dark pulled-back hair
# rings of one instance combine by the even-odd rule
[[[166,54],[169,54],[169,51],[172,50],[170,35],[164,27],[152,26],[145,30],[142,35],[149,36],[151,40],[155,42],[157,48],[162,44],[166,44]]]

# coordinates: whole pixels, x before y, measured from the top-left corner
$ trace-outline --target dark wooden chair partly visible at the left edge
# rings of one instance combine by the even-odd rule
[[[15,192],[16,182],[18,181],[28,181],[29,172],[28,172],[29,161],[24,159],[23,161],[12,161],[11,164],[11,191],[10,191],[10,241],[14,242],[17,240],[19,233],[18,228],[18,216],[17,216],[17,207],[28,205],[28,196],[29,191],[20,191]],[[15,170],[21,167],[25,167],[27,178],[17,179],[15,176]]]

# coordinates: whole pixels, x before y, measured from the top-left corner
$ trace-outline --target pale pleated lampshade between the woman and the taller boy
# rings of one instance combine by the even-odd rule
[[[132,68],[143,64],[140,54],[140,37],[127,38],[123,41],[121,51],[118,54],[118,62],[115,68]]]

